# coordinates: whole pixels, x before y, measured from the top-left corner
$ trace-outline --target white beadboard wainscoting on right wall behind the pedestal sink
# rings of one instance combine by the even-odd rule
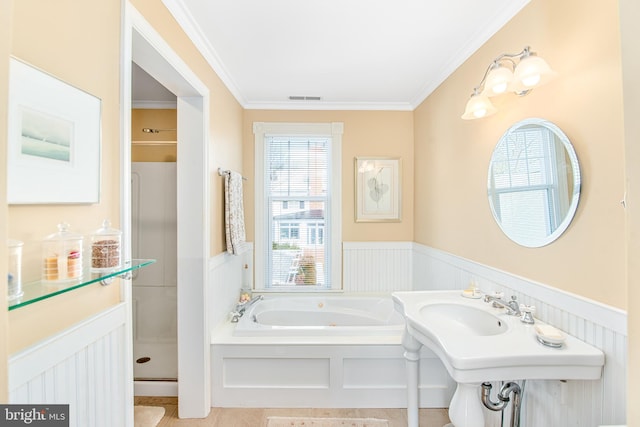
[[[522,424],[528,427],[625,424],[627,315],[623,310],[514,276],[433,248],[414,244],[413,289],[465,289],[475,280],[487,292],[501,290],[535,305],[536,317],[601,349],[598,381],[528,381]],[[487,411],[487,427],[498,427]]]

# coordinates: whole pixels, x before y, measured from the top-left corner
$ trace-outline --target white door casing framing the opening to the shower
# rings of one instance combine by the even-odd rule
[[[125,239],[131,242],[131,62],[177,97],[177,341],[178,414],[204,418],[211,407],[207,284],[210,252],[208,164],[209,91],[144,17],[126,4],[122,92],[123,212]],[[128,188],[127,188],[128,187]],[[131,248],[129,248],[131,256]],[[131,289],[124,299],[131,302]],[[131,323],[133,320],[131,319]],[[133,349],[129,349],[133,359]],[[133,379],[133,369],[131,369]],[[134,391],[135,393],[135,391]]]

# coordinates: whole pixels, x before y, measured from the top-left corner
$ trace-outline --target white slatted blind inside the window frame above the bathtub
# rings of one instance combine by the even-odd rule
[[[329,227],[331,138],[266,136],[264,142],[267,286],[324,288],[331,248],[320,236]]]

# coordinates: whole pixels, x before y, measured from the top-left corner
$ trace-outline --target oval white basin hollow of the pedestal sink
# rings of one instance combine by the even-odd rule
[[[487,336],[507,332],[507,322],[488,311],[462,304],[440,303],[425,305],[420,309],[420,318],[427,324],[438,324],[439,328],[453,334]]]

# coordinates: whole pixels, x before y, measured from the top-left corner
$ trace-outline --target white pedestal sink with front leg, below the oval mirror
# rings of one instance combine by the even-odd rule
[[[484,427],[480,384],[523,379],[595,380],[604,354],[575,337],[561,348],[538,342],[532,325],[460,291],[394,292],[405,318],[408,427],[418,427],[418,362],[424,345],[458,383],[449,406],[455,427]],[[539,322],[541,323],[541,322]]]

